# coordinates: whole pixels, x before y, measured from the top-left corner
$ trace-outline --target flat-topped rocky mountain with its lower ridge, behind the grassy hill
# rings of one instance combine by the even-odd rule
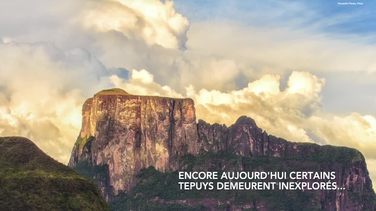
[[[189,98],[129,95],[119,89],[100,94],[105,92],[83,105],[82,129],[68,165],[92,178],[118,210],[148,210],[150,203],[187,210],[376,209],[365,160],[356,149],[288,142],[246,116],[229,127],[196,122]],[[345,189],[190,194],[174,186],[178,181],[168,182],[177,170],[334,171],[335,182]]]

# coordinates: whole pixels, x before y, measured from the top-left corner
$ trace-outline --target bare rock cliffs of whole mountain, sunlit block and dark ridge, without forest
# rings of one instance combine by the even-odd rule
[[[337,148],[333,150],[316,144],[288,142],[268,135],[246,116],[240,117],[230,127],[211,125],[203,120],[196,124],[192,99],[137,96],[121,89],[110,89],[97,93],[83,105],[82,129],[68,165],[88,172],[101,188],[105,199],[111,202],[118,199],[119,193],[129,192],[136,186],[138,179],[135,175],[141,169],[153,166],[159,172],[179,170],[182,168],[179,157],[186,154],[226,152],[242,157],[235,164],[238,169],[233,170],[248,168],[243,162],[244,158],[295,158],[295,162],[284,163],[283,167],[301,165],[301,169],[306,170],[308,167],[334,170],[340,175],[338,184],[356,192],[356,197],[360,196],[363,200],[365,191],[372,190],[364,157],[354,149],[350,152],[341,150],[344,151],[338,152]],[[333,157],[326,156],[333,153],[338,156],[327,164]],[[352,157],[341,160],[341,153]],[[299,163],[296,158],[308,161]],[[214,165],[213,162],[211,165]],[[224,169],[223,163],[218,165],[219,169]],[[375,210],[374,205],[354,202],[355,199],[348,194],[351,191],[321,191],[317,206],[323,210]],[[373,190],[371,192],[370,196],[374,197]],[[331,199],[327,200],[329,195]],[[216,203],[231,204],[219,200]],[[263,203],[257,201],[241,209],[268,210],[262,208],[266,207]],[[234,204],[227,210],[241,209]]]

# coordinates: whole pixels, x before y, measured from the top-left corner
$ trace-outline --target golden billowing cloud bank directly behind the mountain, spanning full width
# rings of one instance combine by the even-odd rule
[[[359,149],[370,166],[376,160],[376,118],[324,112],[326,81],[306,71],[293,71],[282,90],[281,76],[266,74],[243,89],[196,91],[191,84],[183,93],[157,83],[145,69],[129,75],[124,68],[106,68],[86,50],[62,51],[45,42],[0,44],[0,69],[0,136],[29,137],[64,163],[80,130],[84,100],[109,87],[137,95],[190,97],[197,118],[207,122],[231,125],[247,115],[287,140],[349,146]]]

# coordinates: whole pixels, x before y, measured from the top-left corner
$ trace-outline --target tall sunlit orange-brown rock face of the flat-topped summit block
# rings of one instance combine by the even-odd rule
[[[117,90],[116,94],[99,92],[86,100],[82,129],[68,165],[108,165],[111,187],[100,188],[111,201],[120,190],[129,191],[135,185],[140,169],[177,170],[175,156],[198,151],[192,99],[137,96]]]

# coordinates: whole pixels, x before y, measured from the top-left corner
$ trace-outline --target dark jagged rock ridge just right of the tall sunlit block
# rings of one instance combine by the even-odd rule
[[[315,144],[300,148],[298,143],[268,135],[247,116],[241,116],[228,128],[226,125],[211,125],[200,119],[197,131],[200,149],[205,151],[222,150],[243,156],[292,157],[311,154],[320,148],[320,145]]]

